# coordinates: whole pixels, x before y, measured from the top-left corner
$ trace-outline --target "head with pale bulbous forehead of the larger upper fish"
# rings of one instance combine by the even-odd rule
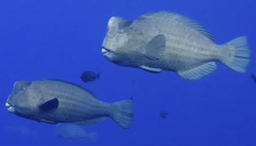
[[[132,22],[122,17],[111,17],[107,24],[102,53],[107,60],[119,66],[128,66],[130,60],[130,49],[127,46],[131,37]]]

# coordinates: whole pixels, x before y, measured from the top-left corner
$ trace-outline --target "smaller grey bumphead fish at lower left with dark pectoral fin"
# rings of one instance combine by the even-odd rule
[[[131,126],[132,100],[108,104],[97,98],[77,84],[60,79],[38,79],[15,82],[6,105],[11,114],[37,122],[73,122],[88,126],[109,117],[120,127],[128,129]]]

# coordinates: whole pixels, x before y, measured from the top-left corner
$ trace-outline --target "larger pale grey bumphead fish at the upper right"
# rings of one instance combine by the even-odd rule
[[[119,66],[175,71],[190,80],[215,71],[215,62],[245,73],[252,57],[246,36],[217,45],[201,24],[172,11],[150,12],[133,21],[112,17],[102,53]]]

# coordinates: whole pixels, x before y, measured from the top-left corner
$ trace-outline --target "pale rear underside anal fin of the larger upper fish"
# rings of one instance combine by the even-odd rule
[[[208,75],[213,71],[216,71],[217,68],[218,67],[216,66],[215,62],[206,62],[199,67],[195,67],[191,70],[183,71],[183,72],[178,71],[177,73],[180,76],[182,76],[184,79],[194,80],[194,79],[199,79],[204,75]]]

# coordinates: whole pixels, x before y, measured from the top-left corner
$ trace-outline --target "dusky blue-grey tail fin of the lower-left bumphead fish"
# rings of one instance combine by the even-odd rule
[[[113,103],[111,118],[124,129],[129,129],[133,121],[132,100],[118,101]]]

